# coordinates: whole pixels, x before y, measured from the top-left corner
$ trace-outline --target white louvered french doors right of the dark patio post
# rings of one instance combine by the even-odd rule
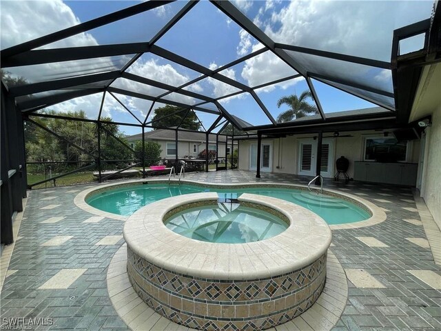
[[[301,140],[298,143],[298,174],[315,176],[316,174],[317,141]],[[322,161],[320,173],[323,177],[332,177],[334,170],[334,141],[323,139]]]

